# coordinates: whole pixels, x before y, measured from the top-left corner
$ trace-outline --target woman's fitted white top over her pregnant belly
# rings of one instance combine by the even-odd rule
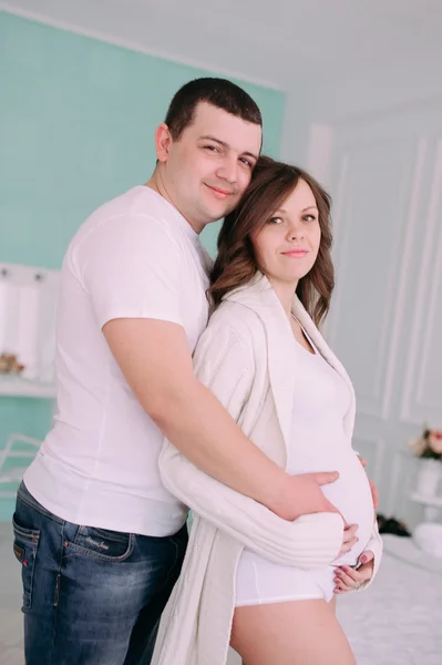
[[[299,356],[299,380],[294,395],[287,472],[339,471],[338,480],[323,485],[322,492],[348,524],[358,524],[358,543],[336,562],[354,565],[371,538],[374,508],[366,470],[345,429],[351,392],[318,351],[313,355],[296,340],[294,344]]]

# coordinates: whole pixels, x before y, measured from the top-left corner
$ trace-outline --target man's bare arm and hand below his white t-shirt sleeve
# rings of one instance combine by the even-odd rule
[[[107,321],[103,334],[144,410],[195,466],[286,520],[337,512],[315,474],[285,473],[245,437],[214,395],[196,379],[179,325],[119,318]],[[337,477],[327,474],[323,482],[332,482]]]

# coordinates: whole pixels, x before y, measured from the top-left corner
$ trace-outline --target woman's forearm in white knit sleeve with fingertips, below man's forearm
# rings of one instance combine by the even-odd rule
[[[174,497],[257,554],[285,565],[321,567],[351,550],[357,542],[353,525],[342,533],[337,513],[282,520],[258,501],[235,492],[201,471],[165,440],[160,456],[164,485]]]

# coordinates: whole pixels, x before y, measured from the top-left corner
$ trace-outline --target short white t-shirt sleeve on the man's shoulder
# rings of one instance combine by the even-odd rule
[[[100,328],[115,318],[182,324],[179,245],[155,218],[121,216],[91,229],[72,254]]]

